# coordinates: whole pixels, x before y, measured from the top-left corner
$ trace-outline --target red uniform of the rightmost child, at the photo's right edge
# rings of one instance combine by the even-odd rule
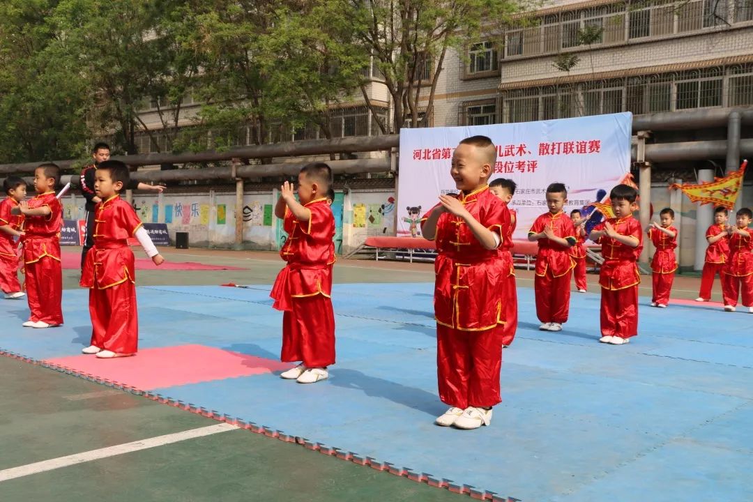
[[[751,230],[741,236],[730,236],[730,259],[721,272],[721,295],[724,305],[737,306],[737,297],[742,294],[742,305],[753,306],[753,237]]]

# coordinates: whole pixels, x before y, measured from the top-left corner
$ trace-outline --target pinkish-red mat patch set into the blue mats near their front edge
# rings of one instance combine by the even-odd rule
[[[81,354],[44,362],[140,391],[260,375],[293,367],[290,363],[205,345],[145,348],[133,357],[97,359],[93,355]]]

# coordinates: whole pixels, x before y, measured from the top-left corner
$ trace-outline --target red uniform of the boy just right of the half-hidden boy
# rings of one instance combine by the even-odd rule
[[[575,227],[564,212],[541,214],[528,233],[541,233],[547,227],[553,230],[555,236],[575,243]],[[538,239],[533,288],[536,295],[536,315],[542,323],[567,322],[573,267],[575,260],[570,256],[569,246],[560,245],[546,237]]]

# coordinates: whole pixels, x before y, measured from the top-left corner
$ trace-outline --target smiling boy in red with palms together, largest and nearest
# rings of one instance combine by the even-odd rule
[[[458,195],[441,195],[422,218],[422,233],[437,245],[434,315],[439,397],[450,409],[436,424],[476,429],[489,425],[501,401],[499,371],[505,323],[505,277],[497,248],[510,231],[510,211],[489,191],[497,150],[486,136],[460,141],[450,175]]]

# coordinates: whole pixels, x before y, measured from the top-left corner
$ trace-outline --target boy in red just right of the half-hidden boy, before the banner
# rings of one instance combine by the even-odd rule
[[[562,183],[547,187],[549,212],[535,219],[528,232],[529,241],[538,241],[533,282],[539,330],[561,331],[570,309],[570,275],[575,260],[570,248],[575,245],[575,227],[562,212],[567,203],[567,189]]]

